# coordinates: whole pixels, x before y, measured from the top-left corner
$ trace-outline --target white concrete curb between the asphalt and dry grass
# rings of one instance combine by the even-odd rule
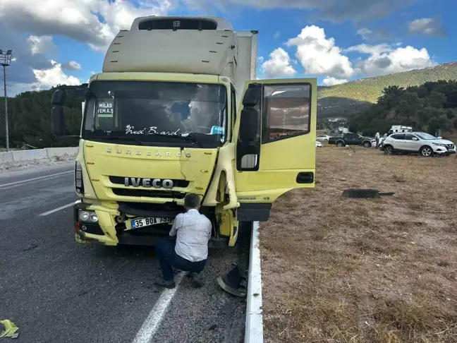
[[[245,343],[263,343],[262,270],[260,267],[259,222],[252,223],[247,298],[248,306],[246,307]]]

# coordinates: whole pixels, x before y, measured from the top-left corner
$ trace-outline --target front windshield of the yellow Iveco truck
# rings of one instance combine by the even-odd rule
[[[225,141],[226,102],[223,85],[94,81],[85,105],[83,138],[219,146]]]

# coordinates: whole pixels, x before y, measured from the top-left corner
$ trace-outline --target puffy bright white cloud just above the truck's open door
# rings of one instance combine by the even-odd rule
[[[306,26],[300,35],[288,40],[286,45],[297,47],[295,56],[307,74],[327,75],[339,80],[353,76],[351,61],[336,47],[334,38],[327,39],[323,28]]]

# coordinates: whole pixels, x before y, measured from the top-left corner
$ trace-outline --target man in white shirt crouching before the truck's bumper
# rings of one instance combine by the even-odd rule
[[[190,272],[196,287],[202,287],[200,272],[207,263],[208,241],[211,238],[212,224],[205,215],[201,215],[200,198],[196,194],[185,195],[186,212],[176,216],[170,236],[176,236],[176,244],[161,239],[157,242],[157,259],[162,268],[162,279],[155,284],[174,288],[173,269]]]

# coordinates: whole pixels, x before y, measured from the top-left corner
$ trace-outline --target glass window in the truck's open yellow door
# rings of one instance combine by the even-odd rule
[[[310,85],[264,86],[262,143],[310,132]]]

